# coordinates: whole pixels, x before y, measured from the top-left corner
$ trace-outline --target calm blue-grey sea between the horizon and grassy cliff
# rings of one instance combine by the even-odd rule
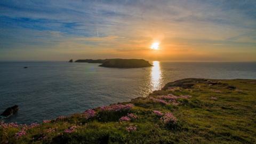
[[[146,97],[181,78],[256,79],[255,62],[152,63],[154,67],[118,69],[98,67],[97,63],[0,62],[0,113],[19,105],[18,113],[5,122],[41,123]]]

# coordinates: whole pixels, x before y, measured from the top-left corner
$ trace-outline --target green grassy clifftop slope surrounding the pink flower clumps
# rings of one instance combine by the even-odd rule
[[[183,80],[184,81],[184,80]],[[234,79],[209,81],[187,79],[175,90],[155,91],[147,98],[131,100],[135,107],[121,112],[101,113],[86,119],[74,114],[65,119],[39,125],[27,131],[20,139],[13,138],[17,128],[0,127],[0,142],[10,143],[256,143],[256,80]],[[186,83],[191,84],[187,88]],[[235,86],[231,89],[228,86]],[[176,85],[177,86],[177,85]],[[234,88],[234,87],[233,87]],[[191,95],[179,99],[180,105],[154,102],[157,95]],[[212,100],[216,97],[217,100]],[[178,118],[177,127],[167,127],[153,110],[171,111]],[[127,113],[139,117],[131,122],[119,122]],[[137,125],[137,131],[127,132],[129,124]],[[70,126],[78,125],[74,133],[63,133]],[[49,128],[54,132],[47,132]],[[41,140],[41,137],[45,137]],[[34,140],[33,140],[34,138]]]

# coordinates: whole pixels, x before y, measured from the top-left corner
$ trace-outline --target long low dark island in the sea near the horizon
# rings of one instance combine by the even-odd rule
[[[100,67],[109,67],[109,68],[143,68],[151,67],[148,61],[143,59],[85,59],[85,60],[76,60],[75,62],[87,62],[87,63],[101,63]]]

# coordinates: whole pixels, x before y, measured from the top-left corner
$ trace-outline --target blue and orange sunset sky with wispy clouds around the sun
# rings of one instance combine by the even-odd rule
[[[256,61],[256,1],[0,1],[0,61],[106,58]]]

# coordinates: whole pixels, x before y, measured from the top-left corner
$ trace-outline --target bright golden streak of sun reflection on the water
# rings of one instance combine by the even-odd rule
[[[155,91],[161,89],[162,71],[159,61],[153,61],[153,66],[151,68],[151,86],[152,90]]]

